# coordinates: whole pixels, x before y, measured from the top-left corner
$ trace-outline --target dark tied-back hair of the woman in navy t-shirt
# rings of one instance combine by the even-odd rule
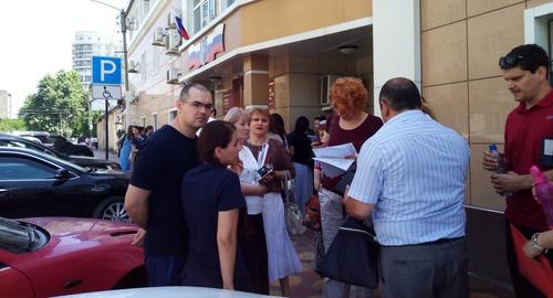
[[[227,121],[215,120],[206,124],[201,128],[200,136],[198,138],[198,155],[200,161],[223,167],[223,164],[215,157],[215,149],[217,147],[227,148],[234,131],[234,126]]]

